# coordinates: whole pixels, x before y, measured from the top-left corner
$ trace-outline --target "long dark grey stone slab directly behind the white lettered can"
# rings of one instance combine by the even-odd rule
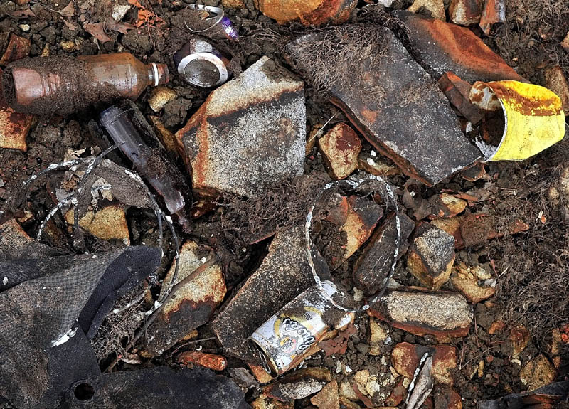
[[[228,354],[253,359],[247,338],[298,294],[314,284],[304,230],[278,230],[261,265],[213,320],[211,329]],[[324,267],[323,260],[314,260]]]

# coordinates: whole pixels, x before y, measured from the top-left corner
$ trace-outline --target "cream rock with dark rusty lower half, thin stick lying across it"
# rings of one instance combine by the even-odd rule
[[[192,275],[204,264],[198,253],[198,245],[195,242],[188,241],[182,245],[175,284]],[[176,262],[172,262],[162,283],[160,297],[169,290],[175,270]],[[226,292],[223,273],[217,263],[198,272],[154,313],[156,318],[147,329],[146,349],[152,355],[160,355],[186,339],[193,329],[208,322],[213,311],[225,298]]]

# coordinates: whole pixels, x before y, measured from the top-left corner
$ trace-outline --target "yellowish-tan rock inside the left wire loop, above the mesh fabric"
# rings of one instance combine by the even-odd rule
[[[73,226],[75,211],[71,208],[65,213],[65,221]],[[97,211],[87,211],[79,218],[79,227],[101,240],[120,240],[130,245],[130,233],[127,215],[121,206],[110,205]]]

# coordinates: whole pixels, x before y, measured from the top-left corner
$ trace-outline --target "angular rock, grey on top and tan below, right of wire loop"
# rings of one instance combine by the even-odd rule
[[[407,269],[423,285],[438,290],[448,281],[454,265],[454,237],[430,223],[417,229],[407,253]]]

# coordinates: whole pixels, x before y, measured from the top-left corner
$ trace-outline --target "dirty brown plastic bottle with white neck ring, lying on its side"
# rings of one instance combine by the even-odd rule
[[[17,112],[69,115],[97,102],[136,100],[165,84],[165,64],[145,64],[130,53],[26,58],[4,70],[4,96]]]

